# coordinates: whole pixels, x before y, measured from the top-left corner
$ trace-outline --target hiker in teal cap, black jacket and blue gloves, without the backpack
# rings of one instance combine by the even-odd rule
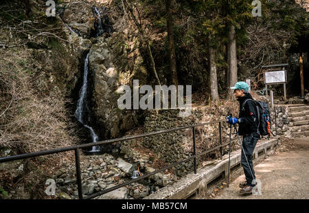
[[[260,134],[258,132],[258,112],[255,107],[255,102],[248,92],[249,86],[246,82],[237,82],[234,87],[231,87],[231,89],[234,89],[233,94],[240,104],[240,112],[239,118],[229,117],[227,122],[233,125],[238,123],[238,133],[239,135],[243,136],[241,165],[242,168],[244,168],[244,176],[246,177],[246,181],[241,182],[239,187],[241,188],[240,192],[251,194],[252,188],[255,186],[255,184],[252,183],[253,179],[255,179],[252,155],[255,145],[257,144],[258,139],[260,139]],[[244,155],[246,155],[249,165]],[[253,177],[251,175],[249,166],[251,168]]]

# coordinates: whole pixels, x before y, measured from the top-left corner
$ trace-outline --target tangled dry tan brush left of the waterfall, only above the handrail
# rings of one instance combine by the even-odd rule
[[[21,153],[69,146],[72,136],[67,101],[56,86],[49,94],[29,49],[0,53],[0,145]]]

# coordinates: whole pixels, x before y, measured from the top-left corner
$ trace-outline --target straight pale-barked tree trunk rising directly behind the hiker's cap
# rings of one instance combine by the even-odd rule
[[[227,45],[227,64],[228,64],[228,74],[229,74],[229,87],[233,87],[237,82],[237,54],[236,54],[236,37],[235,37],[235,27],[229,25],[229,43]],[[229,97],[233,97],[233,92],[228,88]]]

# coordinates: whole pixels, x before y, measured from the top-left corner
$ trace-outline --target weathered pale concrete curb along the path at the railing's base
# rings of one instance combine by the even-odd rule
[[[253,161],[261,159],[270,150],[277,146],[279,139],[272,138],[269,140],[260,140],[255,146]],[[241,150],[231,153],[230,168],[240,166]],[[150,194],[144,199],[187,199],[193,194],[205,196],[207,193],[207,184],[218,177],[227,177],[229,168],[228,155],[222,157],[222,160],[216,160],[215,165],[199,168],[196,174],[188,174],[176,183],[165,186],[157,192]]]

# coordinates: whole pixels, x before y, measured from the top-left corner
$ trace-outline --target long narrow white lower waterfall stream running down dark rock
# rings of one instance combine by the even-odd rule
[[[96,143],[98,142],[99,139],[98,135],[95,134],[91,126],[84,124],[84,121],[82,119],[82,115],[84,112],[84,100],[87,97],[88,61],[89,61],[89,54],[87,54],[87,57],[84,61],[84,76],[83,76],[82,88],[80,89],[80,98],[78,99],[78,105],[75,111],[75,117],[79,122],[81,122],[84,125],[84,127],[89,128],[92,141],[93,143]],[[100,151],[101,151],[100,146],[93,146],[92,149],[89,151],[89,153],[98,153]]]

